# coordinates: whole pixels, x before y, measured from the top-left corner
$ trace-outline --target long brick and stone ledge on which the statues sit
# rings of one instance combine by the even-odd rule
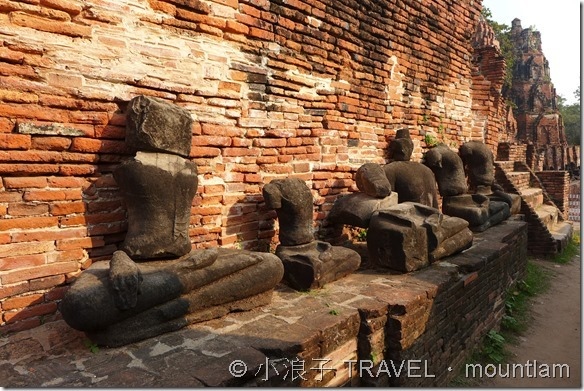
[[[447,368],[498,325],[526,243],[526,223],[507,221],[417,272],[362,270],[308,293],[279,286],[268,306],[95,354],[82,334],[54,322],[43,326],[48,334],[0,339],[2,386],[444,386],[454,375]],[[236,360],[241,377],[229,373]],[[357,360],[372,368],[360,372]],[[420,369],[394,376],[389,360]]]

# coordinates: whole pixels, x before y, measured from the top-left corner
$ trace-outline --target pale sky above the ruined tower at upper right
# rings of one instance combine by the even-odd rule
[[[483,0],[492,19],[511,27],[521,19],[521,27],[533,26],[541,33],[541,48],[550,65],[556,94],[566,104],[576,103],[574,91],[580,85],[580,13],[579,0]]]

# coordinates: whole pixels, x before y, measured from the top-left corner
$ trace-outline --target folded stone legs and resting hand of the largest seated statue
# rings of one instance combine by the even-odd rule
[[[243,250],[193,250],[177,260],[116,272],[113,263],[120,259],[133,262],[118,251],[111,262],[92,265],[61,302],[65,321],[100,345],[125,345],[268,304],[284,274],[275,255]],[[136,275],[137,286],[128,283]]]

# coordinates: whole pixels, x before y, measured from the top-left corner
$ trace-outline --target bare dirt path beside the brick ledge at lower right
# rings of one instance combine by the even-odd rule
[[[519,344],[509,349],[513,354],[509,360],[509,377],[499,376],[500,373],[506,374],[507,367],[504,366],[502,372],[483,382],[485,387],[582,387],[580,254],[564,265],[535,262],[553,274],[551,288],[535,297],[533,323]],[[528,363],[531,364],[529,368]],[[511,377],[513,364],[523,364],[523,376],[520,376],[517,366],[517,376]],[[556,367],[554,377],[553,364],[567,364],[569,376],[566,367],[563,373]],[[546,374],[546,368],[549,369],[548,378],[541,376]]]

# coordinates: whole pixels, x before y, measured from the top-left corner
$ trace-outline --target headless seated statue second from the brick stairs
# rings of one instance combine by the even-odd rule
[[[462,159],[448,146],[439,144],[425,155],[442,195],[442,212],[460,217],[469,223],[474,232],[482,232],[510,216],[509,205],[491,201],[483,194],[467,194],[466,177]]]

